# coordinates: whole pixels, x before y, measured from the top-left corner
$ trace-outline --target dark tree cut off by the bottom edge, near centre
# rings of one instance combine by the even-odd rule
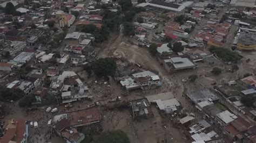
[[[130,143],[130,139],[122,130],[107,131],[100,134],[95,143]]]

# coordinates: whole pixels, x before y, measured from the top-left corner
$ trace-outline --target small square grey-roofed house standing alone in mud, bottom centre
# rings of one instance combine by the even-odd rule
[[[152,116],[152,110],[147,98],[134,100],[131,102],[131,104],[133,119],[149,118]]]

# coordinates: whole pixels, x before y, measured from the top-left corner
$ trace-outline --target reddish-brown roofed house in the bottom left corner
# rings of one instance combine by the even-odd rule
[[[24,118],[14,118],[6,120],[2,127],[3,137],[1,137],[1,143],[10,142],[26,142],[28,138],[28,129],[26,128]]]

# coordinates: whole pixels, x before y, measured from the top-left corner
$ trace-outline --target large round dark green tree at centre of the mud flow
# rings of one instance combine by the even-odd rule
[[[100,58],[92,63],[92,70],[96,76],[111,76],[116,73],[117,64],[112,58]]]

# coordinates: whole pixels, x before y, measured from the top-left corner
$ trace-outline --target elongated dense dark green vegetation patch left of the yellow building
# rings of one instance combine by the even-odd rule
[[[226,48],[217,48],[217,47],[211,47],[209,51],[213,54],[216,54],[221,60],[224,62],[238,62],[242,59],[242,56],[230,51]]]

